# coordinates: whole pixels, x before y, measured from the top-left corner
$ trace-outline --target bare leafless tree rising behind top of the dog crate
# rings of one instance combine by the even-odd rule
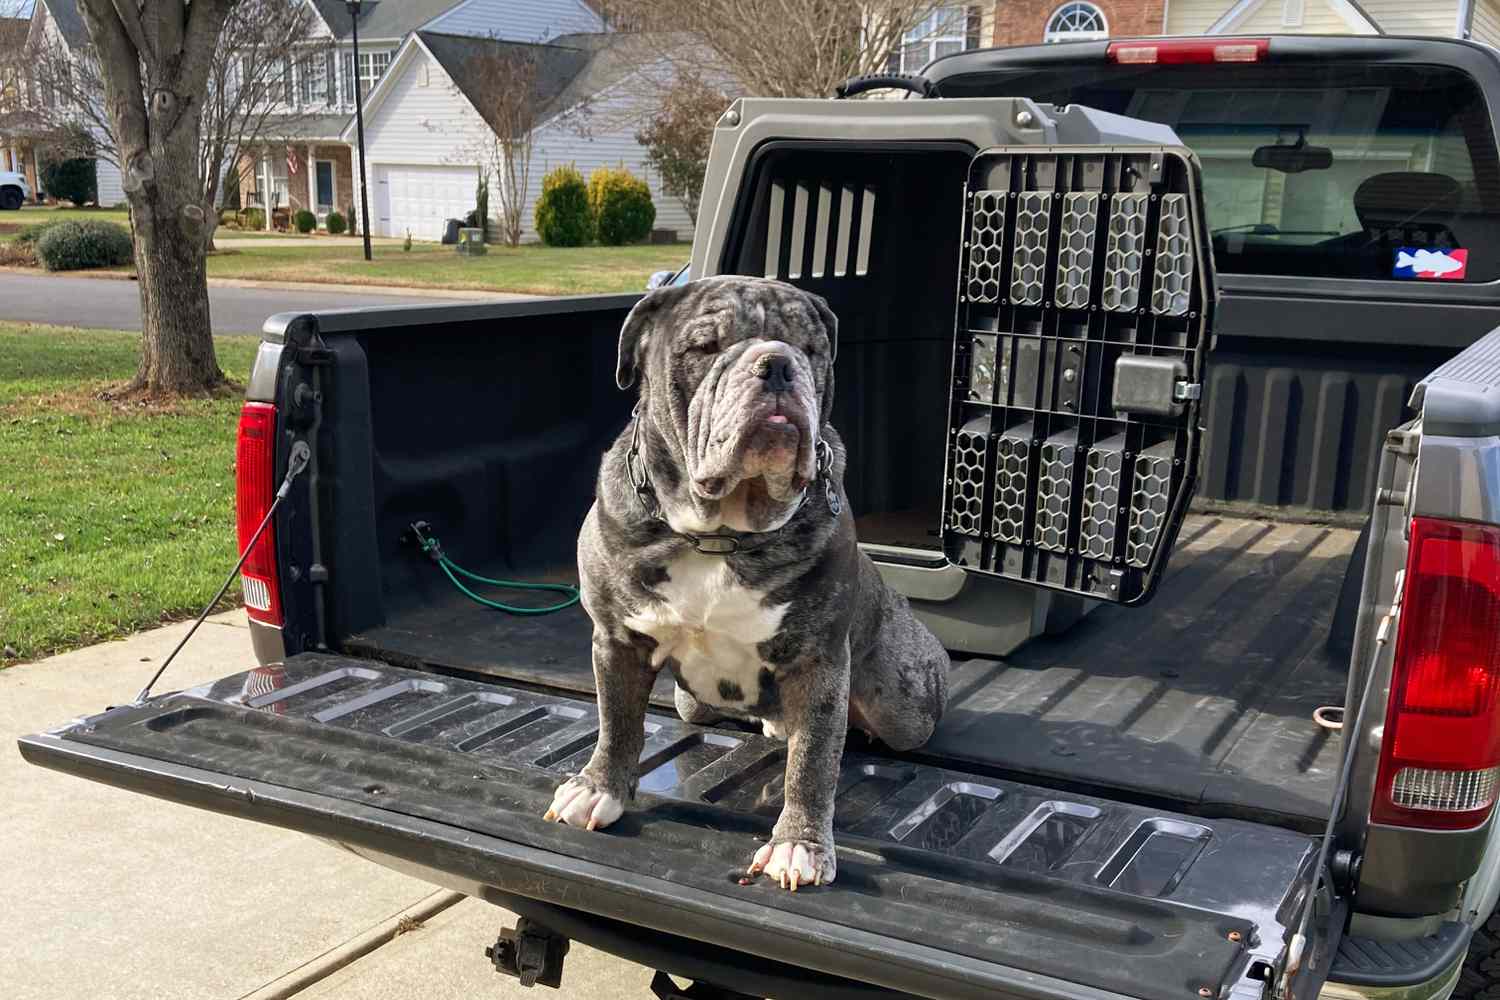
[[[951,0],[609,0],[616,25],[674,39],[662,54],[680,75],[734,79],[758,97],[826,97],[844,79],[885,72],[904,45],[939,30]],[[945,19],[945,18],[939,18]],[[684,45],[682,36],[694,39]],[[922,60],[926,61],[926,60]]]

